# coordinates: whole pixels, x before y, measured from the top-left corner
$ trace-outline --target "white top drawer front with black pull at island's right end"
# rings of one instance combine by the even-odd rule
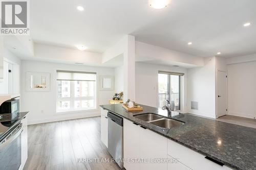
[[[168,139],[167,141],[168,155],[179,159],[179,161],[186,165],[187,167],[197,170],[197,169],[207,169],[207,170],[230,170],[231,168],[223,165],[219,165],[205,158],[193,150],[190,150],[183,145]]]

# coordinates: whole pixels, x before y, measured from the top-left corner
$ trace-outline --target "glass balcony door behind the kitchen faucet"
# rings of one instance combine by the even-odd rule
[[[159,71],[158,74],[158,106],[167,104],[168,100],[173,111],[181,110],[182,76],[178,72]]]

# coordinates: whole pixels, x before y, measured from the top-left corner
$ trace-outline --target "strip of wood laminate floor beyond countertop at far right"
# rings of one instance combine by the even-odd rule
[[[236,124],[236,125],[246,126],[246,127],[250,127],[250,128],[256,128],[256,119],[253,119],[253,118],[225,115],[225,116],[217,118],[217,120],[226,122],[226,123],[230,123],[230,124]]]

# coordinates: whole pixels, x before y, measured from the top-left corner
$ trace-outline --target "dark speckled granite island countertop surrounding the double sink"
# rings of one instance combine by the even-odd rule
[[[191,150],[218,160],[233,169],[256,169],[256,129],[177,112],[173,112],[172,118],[185,122],[185,124],[165,129],[144,122],[133,115],[156,113],[167,116],[166,110],[140,106],[143,107],[143,111],[127,112],[122,108],[122,104],[101,105],[106,110],[172,139]]]

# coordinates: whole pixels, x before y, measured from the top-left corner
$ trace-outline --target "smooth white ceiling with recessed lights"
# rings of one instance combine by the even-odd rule
[[[254,0],[172,0],[162,10],[148,7],[147,0],[33,0],[30,6],[35,42],[72,48],[83,44],[102,53],[131,34],[138,41],[201,57],[256,53]],[[244,28],[248,21],[252,25]]]

